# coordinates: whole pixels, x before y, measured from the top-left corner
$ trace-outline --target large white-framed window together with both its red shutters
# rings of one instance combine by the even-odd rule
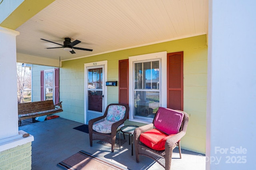
[[[183,51],[137,55],[124,61],[119,61],[123,63],[119,66],[119,97],[129,100],[129,121],[152,123],[158,107],[183,110]]]

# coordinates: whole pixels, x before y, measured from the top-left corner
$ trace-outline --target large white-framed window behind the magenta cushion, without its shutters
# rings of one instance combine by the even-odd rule
[[[166,51],[129,57],[129,120],[152,122],[167,107]]]

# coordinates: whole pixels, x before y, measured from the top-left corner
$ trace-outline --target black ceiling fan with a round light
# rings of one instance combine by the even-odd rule
[[[44,40],[46,42],[51,42],[49,40],[45,40],[40,38],[40,40]],[[51,43],[56,43],[56,42],[51,42]],[[87,48],[80,48],[80,47],[74,47],[75,45],[77,45],[78,43],[80,43],[79,40],[75,40],[73,42],[71,42],[70,38],[65,38],[65,41],[62,44],[56,43],[58,45],[61,45],[61,47],[52,47],[52,48],[63,48],[65,51],[70,51],[70,53],[74,54],[75,51],[73,49],[80,49],[80,50],[85,50],[85,51],[92,51],[92,49],[87,49]],[[51,49],[51,48],[47,48],[47,49]]]

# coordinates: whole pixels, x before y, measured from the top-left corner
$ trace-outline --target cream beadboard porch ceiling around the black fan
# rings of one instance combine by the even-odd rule
[[[62,61],[208,34],[208,0],[55,0],[16,29],[17,53]],[[64,38],[80,40],[75,54]]]

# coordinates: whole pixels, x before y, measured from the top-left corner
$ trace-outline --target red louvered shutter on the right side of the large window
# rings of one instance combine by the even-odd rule
[[[167,107],[183,111],[183,51],[167,54]]]

